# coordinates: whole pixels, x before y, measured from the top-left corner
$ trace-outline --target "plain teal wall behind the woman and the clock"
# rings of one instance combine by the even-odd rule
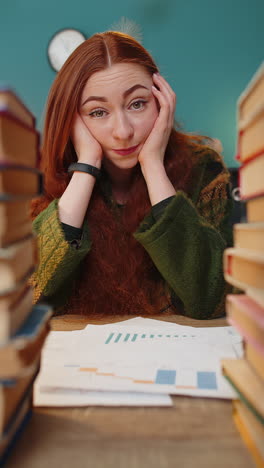
[[[263,0],[0,0],[0,81],[41,129],[55,76],[50,37],[63,27],[88,37],[122,16],[141,26],[143,45],[176,91],[176,118],[187,131],[219,138],[235,166],[236,101],[263,60]]]

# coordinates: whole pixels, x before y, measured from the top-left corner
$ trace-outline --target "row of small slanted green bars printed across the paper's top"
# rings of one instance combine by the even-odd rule
[[[109,343],[135,343],[139,340],[148,340],[148,339],[179,339],[179,338],[196,338],[195,334],[184,334],[184,333],[171,333],[171,334],[160,334],[160,333],[118,333],[112,332],[109,333],[105,344]]]

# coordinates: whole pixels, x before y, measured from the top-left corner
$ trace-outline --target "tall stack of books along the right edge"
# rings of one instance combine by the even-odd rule
[[[227,320],[243,337],[242,359],[223,360],[237,393],[233,415],[257,466],[264,466],[264,64],[238,100],[238,159],[247,222],[234,225],[224,253],[227,282],[241,291],[226,300]]]

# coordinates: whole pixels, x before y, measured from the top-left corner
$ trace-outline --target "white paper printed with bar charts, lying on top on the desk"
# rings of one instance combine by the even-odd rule
[[[221,359],[242,354],[232,327],[195,328],[136,318],[51,332],[39,385],[234,398]]]

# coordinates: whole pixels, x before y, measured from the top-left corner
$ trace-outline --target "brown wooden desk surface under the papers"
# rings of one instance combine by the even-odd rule
[[[108,320],[67,316],[54,330],[75,330]],[[155,317],[194,326],[222,326],[224,319],[197,321]],[[253,468],[231,417],[231,402],[173,397],[171,408],[87,407],[35,409],[7,468]]]

